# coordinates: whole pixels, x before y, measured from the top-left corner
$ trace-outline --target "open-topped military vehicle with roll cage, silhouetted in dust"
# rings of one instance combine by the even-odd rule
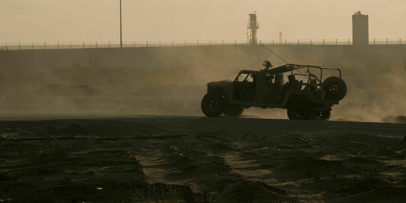
[[[263,65],[265,69],[260,71],[240,71],[233,81],[207,83],[207,94],[201,101],[203,113],[209,117],[222,113],[239,116],[249,107],[282,108],[287,110],[289,119],[329,120],[332,107],[347,93],[338,68],[298,64],[272,68],[269,61]],[[326,71],[335,71],[337,76],[327,77],[322,82]],[[318,76],[314,72],[319,73]],[[284,74],[288,74],[286,83]],[[307,81],[299,81],[298,77]]]

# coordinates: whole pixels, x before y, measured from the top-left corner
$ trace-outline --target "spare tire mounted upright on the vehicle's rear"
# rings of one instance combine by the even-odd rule
[[[339,77],[327,77],[321,88],[326,91],[325,99],[340,101],[347,94],[347,84]]]

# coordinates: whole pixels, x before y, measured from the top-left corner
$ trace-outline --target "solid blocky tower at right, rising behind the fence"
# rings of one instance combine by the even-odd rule
[[[353,45],[368,45],[368,15],[361,14],[361,11],[353,15]]]

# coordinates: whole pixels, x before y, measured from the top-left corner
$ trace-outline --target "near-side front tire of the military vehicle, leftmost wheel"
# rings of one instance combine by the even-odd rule
[[[209,92],[203,96],[200,107],[203,113],[209,117],[216,117],[223,113],[226,102],[223,95],[216,92]]]

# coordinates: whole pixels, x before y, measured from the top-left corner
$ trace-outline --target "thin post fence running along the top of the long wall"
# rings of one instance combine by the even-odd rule
[[[283,39],[259,40],[265,45],[352,45],[351,39]],[[188,41],[125,41],[123,47],[168,47],[168,46],[210,46],[248,44],[247,40],[188,40]],[[406,45],[406,38],[372,38],[370,45]],[[0,43],[0,51],[120,48],[120,42],[44,42],[44,43]]]

